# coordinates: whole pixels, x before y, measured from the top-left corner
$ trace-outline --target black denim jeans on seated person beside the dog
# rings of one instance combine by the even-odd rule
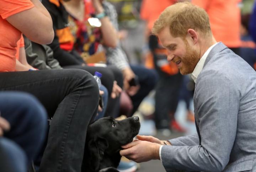
[[[92,75],[76,69],[2,72],[0,90],[33,94],[53,117],[39,172],[80,172],[87,126],[98,110]]]

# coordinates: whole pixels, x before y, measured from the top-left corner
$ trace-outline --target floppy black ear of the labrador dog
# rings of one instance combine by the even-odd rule
[[[104,152],[108,148],[108,142],[103,138],[91,139],[89,141],[89,148],[91,150],[91,164],[95,167],[95,170],[99,170],[100,162],[103,159]]]

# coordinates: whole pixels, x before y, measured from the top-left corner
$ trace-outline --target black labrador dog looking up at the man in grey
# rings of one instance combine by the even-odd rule
[[[132,142],[139,129],[138,116],[121,121],[104,117],[90,124],[87,129],[82,172],[117,171],[121,146]]]

